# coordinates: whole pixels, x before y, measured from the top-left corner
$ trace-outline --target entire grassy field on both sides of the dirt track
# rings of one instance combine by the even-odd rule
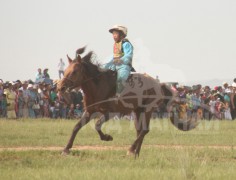
[[[0,120],[0,149],[63,147],[75,120]],[[114,138],[100,141],[91,121],[75,146],[127,147],[135,140],[133,122],[111,120],[104,131]],[[201,121],[190,132],[168,120],[152,120],[140,157],[126,148],[112,150],[0,150],[0,179],[236,179],[236,121]],[[154,145],[162,145],[155,147]],[[59,148],[60,149],[60,148]]]

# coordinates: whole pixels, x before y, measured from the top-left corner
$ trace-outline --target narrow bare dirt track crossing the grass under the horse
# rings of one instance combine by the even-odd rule
[[[73,146],[72,150],[98,150],[98,151],[104,151],[104,150],[127,150],[130,146]],[[203,149],[203,148],[209,148],[209,149],[224,149],[224,150],[230,150],[230,149],[236,149],[236,146],[221,146],[221,145],[209,145],[209,146],[203,146],[203,145],[143,145],[143,148],[161,148],[161,149],[186,149],[186,148],[197,148],[197,149]],[[62,151],[64,147],[60,146],[50,146],[50,147],[40,147],[40,146],[23,146],[23,147],[0,147],[0,151],[39,151],[39,150],[45,150],[45,151]]]

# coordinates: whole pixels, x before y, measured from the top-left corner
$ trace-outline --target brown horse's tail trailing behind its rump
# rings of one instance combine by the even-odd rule
[[[166,106],[167,111],[170,113],[171,123],[181,131],[189,131],[197,127],[199,123],[197,119],[194,119],[194,118],[188,119],[187,117],[185,119],[181,119],[179,116],[180,113],[174,112],[172,110],[173,106],[176,106],[179,104],[176,98],[177,97],[176,93],[166,84],[162,84],[161,89],[164,94],[163,103]]]

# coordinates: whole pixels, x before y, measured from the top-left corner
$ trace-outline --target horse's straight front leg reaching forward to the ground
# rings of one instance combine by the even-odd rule
[[[70,153],[70,148],[72,148],[73,146],[73,142],[75,140],[76,134],[78,133],[78,131],[84,126],[86,125],[89,121],[90,121],[90,114],[88,112],[84,112],[81,119],[79,120],[79,122],[75,125],[71,137],[66,145],[66,147],[64,148],[62,155],[67,155]]]

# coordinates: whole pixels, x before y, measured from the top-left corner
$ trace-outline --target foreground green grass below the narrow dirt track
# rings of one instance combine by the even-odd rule
[[[138,159],[124,151],[0,153],[1,179],[235,179],[236,154],[221,149],[143,149]]]

